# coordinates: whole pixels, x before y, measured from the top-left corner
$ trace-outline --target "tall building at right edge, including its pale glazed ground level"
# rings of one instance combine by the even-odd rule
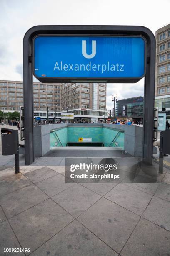
[[[170,24],[156,31],[155,107],[159,108],[159,130],[170,122]]]

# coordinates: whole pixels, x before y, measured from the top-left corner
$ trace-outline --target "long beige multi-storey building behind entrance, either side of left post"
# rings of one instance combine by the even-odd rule
[[[60,120],[61,112],[72,112],[77,122],[97,122],[107,117],[106,84],[33,83],[34,118]],[[23,82],[0,81],[0,110],[19,111],[23,106]]]

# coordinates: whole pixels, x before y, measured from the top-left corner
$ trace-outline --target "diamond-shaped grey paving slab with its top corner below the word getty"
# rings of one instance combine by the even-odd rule
[[[81,212],[99,200],[100,197],[100,195],[91,190],[75,184],[55,195],[52,199],[76,218]]]

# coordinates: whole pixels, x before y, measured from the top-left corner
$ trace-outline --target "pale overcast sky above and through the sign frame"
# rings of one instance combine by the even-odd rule
[[[0,79],[23,81],[23,36],[36,25],[140,25],[155,31],[170,23],[170,0],[0,0]],[[107,110],[118,99],[143,96],[137,84],[107,84]]]

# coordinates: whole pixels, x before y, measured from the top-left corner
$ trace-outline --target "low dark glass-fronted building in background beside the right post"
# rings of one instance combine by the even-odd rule
[[[143,97],[133,97],[116,101],[115,117],[143,121]]]

